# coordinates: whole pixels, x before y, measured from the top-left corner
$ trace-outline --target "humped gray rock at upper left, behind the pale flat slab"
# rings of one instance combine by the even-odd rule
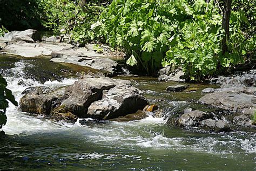
[[[0,37],[1,41],[11,41],[14,37],[30,37],[34,42],[40,40],[40,34],[36,30],[25,30],[25,31],[11,31],[5,33],[4,37]]]

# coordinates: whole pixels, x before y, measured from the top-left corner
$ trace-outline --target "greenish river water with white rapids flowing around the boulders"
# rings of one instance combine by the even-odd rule
[[[47,58],[0,56],[0,72],[16,100],[29,86],[71,85],[92,70],[50,63]],[[97,73],[100,74],[100,73]],[[127,79],[127,78],[126,78]],[[196,93],[167,93],[154,78],[129,78],[165,115],[179,106],[195,106]],[[198,105],[197,107],[204,108]],[[5,138],[0,139],[0,170],[255,170],[255,132],[207,133],[165,125],[152,116],[140,121],[75,124],[55,122],[7,110]],[[86,122],[86,124],[83,124]]]

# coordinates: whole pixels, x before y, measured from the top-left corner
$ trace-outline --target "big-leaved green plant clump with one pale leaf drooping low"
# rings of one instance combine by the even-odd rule
[[[152,73],[161,66],[176,28],[170,8],[161,1],[115,0],[93,29],[112,47],[125,51],[127,64]]]

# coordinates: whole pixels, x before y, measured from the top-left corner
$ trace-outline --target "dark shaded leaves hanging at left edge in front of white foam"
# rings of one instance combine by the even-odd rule
[[[12,92],[6,88],[6,86],[6,80],[0,75],[0,128],[2,128],[7,121],[5,115],[6,108],[8,108],[7,100],[9,100],[15,106],[18,106],[18,102],[15,100],[14,95],[12,95]]]

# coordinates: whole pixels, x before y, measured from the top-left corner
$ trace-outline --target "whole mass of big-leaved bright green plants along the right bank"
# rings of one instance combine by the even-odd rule
[[[241,63],[255,49],[255,34],[246,38],[242,31],[253,23],[247,19],[252,12],[241,7],[231,13],[229,49],[221,53],[224,30],[219,5],[204,0],[114,0],[92,29],[112,47],[124,50],[131,66],[147,73],[161,64],[181,66],[188,79],[200,80]]]

